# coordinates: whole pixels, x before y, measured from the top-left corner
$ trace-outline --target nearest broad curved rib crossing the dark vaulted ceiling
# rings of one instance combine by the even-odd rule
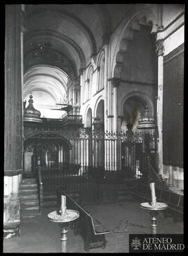
[[[96,52],[95,38],[86,25],[78,21],[77,17],[70,17],[66,13],[49,11],[32,13],[27,19],[27,30],[39,29],[54,30],[62,35],[66,35],[81,47],[85,54],[86,62],[93,53]]]

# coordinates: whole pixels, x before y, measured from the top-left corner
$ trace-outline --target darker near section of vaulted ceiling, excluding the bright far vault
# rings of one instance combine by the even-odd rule
[[[86,68],[130,4],[24,5],[24,70],[53,65],[72,79]],[[41,48],[42,47],[42,48]],[[38,53],[36,53],[38,52]]]

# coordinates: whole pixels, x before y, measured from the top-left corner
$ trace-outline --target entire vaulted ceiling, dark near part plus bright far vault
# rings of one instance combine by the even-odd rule
[[[77,80],[132,5],[23,5],[24,98],[35,91],[63,103]],[[41,94],[41,95],[43,95]]]

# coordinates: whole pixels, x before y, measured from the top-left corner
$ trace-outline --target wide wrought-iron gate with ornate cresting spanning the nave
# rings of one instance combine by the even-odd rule
[[[146,158],[156,165],[155,133],[102,132],[89,128],[43,131],[33,140],[33,169],[40,160],[43,190],[112,190],[147,179]]]

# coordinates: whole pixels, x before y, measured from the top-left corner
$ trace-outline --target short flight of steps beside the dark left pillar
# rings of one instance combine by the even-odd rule
[[[38,186],[35,178],[23,179],[19,184],[21,201],[21,218],[32,218],[40,215]]]

